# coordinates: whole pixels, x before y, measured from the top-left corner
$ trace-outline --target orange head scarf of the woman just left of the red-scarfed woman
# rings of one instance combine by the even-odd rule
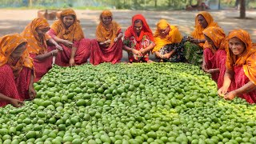
[[[112,21],[110,25],[106,26],[103,21],[102,17],[112,17],[112,13],[110,10],[104,10],[102,11],[102,14],[100,15],[99,19],[100,22],[96,29],[96,38],[98,42],[105,42],[106,40],[110,39],[110,46],[114,43],[114,38],[118,36],[118,32],[121,30],[121,27],[118,25],[117,22]]]

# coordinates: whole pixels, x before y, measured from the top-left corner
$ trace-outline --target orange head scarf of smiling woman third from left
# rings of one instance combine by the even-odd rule
[[[63,18],[68,15],[72,15],[74,17],[74,23],[66,29]],[[79,24],[77,15],[72,9],[62,10],[60,19],[55,21],[50,28],[54,30],[58,38],[69,40],[70,42],[79,41],[84,38],[82,27]]]

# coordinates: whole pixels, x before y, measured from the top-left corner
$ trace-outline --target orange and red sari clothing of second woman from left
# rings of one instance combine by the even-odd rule
[[[36,59],[39,54],[46,54],[48,51],[46,41],[50,39],[49,34],[43,35],[42,38],[38,36],[37,29],[50,29],[50,25],[46,18],[34,18],[30,24],[22,31],[22,37],[26,38],[27,46],[26,49],[30,53],[30,57],[34,59],[34,82],[38,82],[50,69],[53,57],[45,58],[40,61]]]

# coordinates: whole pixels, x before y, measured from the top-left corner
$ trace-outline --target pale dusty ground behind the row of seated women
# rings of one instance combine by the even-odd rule
[[[82,29],[86,38],[94,38],[95,30],[98,24],[98,16],[101,10],[75,10],[81,21]],[[21,33],[24,27],[37,17],[38,10],[0,10],[0,36],[10,33]],[[146,17],[150,28],[154,32],[156,23],[159,19],[165,18],[172,25],[178,26],[182,34],[190,34],[194,30],[194,17],[198,11],[146,11],[146,10],[112,10],[114,20],[122,26],[125,31],[131,24],[131,18],[134,14],[143,14]],[[226,34],[230,30],[242,28],[248,30],[252,36],[253,42],[256,42],[256,10],[246,12],[247,19],[239,19],[238,10],[219,10],[210,11],[214,20],[225,30]],[[49,21],[50,24],[54,21]],[[126,53],[124,52],[124,59]]]

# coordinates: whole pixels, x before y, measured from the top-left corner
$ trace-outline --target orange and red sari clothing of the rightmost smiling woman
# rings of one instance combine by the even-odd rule
[[[250,34],[245,30],[233,30],[227,37],[239,38],[246,46],[246,50],[239,57],[234,55],[229,47],[226,48],[226,69],[234,71],[234,90],[244,86],[247,82],[253,82],[256,85],[256,49],[254,48]],[[242,94],[247,102],[256,102],[256,90]]]

